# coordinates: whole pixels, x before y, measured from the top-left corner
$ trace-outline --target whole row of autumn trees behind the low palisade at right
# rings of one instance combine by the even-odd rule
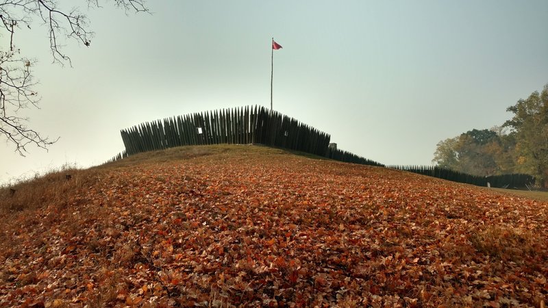
[[[523,173],[548,188],[548,84],[506,109],[513,116],[491,129],[472,129],[438,142],[432,162],[481,177]]]

